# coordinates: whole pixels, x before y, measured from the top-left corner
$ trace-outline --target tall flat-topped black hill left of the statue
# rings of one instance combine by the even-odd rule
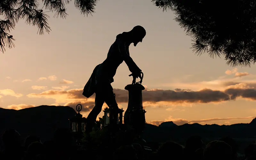
[[[22,138],[38,135],[41,140],[52,138],[54,131],[68,128],[68,119],[75,116],[76,111],[68,106],[38,106],[20,110],[0,108],[0,137],[6,129],[15,128]],[[3,144],[0,140],[0,150]]]

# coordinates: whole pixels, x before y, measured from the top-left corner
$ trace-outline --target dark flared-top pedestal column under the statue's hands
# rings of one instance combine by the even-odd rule
[[[128,90],[128,106],[124,113],[124,124],[132,126],[137,133],[141,133],[146,122],[146,111],[142,106],[142,90],[145,87],[140,83],[135,83],[126,85],[124,89]]]

